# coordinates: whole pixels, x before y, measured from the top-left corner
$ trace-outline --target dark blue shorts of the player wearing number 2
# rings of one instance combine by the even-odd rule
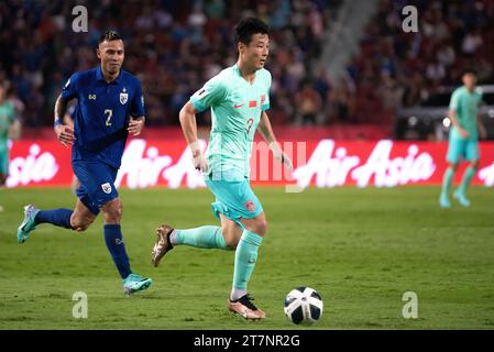
[[[80,182],[76,195],[95,215],[99,208],[119,196],[113,183],[118,169],[99,162],[73,162],[74,173]]]

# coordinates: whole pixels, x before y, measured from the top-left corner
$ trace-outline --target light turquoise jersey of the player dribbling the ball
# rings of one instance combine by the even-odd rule
[[[262,111],[270,109],[271,74],[262,68],[248,82],[237,65],[223,69],[190,97],[197,111],[211,108],[206,157],[211,179],[249,178],[252,142]]]

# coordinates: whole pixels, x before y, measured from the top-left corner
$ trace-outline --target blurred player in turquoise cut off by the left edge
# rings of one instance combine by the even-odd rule
[[[18,140],[21,130],[15,109],[6,96],[7,86],[0,82],[0,188],[4,187],[9,176],[9,139]]]

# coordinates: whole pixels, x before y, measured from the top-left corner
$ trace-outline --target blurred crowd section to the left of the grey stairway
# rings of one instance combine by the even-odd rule
[[[72,9],[79,2],[0,2],[0,70],[25,105],[28,125],[51,125],[54,98],[70,74],[98,64],[94,51],[106,29],[124,38],[123,67],[142,79],[147,123],[177,124],[177,107],[201,81],[234,64],[231,29],[248,14],[271,25],[267,68],[277,72],[271,112],[273,123],[289,123],[295,111],[286,102],[293,103],[303,79],[314,82],[307,77],[309,63],[321,52],[328,9],[334,6],[320,0],[87,0],[83,4],[89,12],[89,32],[74,33]],[[329,85],[321,79],[326,77],[318,78],[315,100]],[[198,121],[208,118],[202,114]]]

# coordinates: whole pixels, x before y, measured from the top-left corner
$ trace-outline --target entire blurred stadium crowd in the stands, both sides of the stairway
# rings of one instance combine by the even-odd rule
[[[124,68],[136,74],[147,123],[178,124],[178,110],[200,85],[235,61],[232,26],[256,15],[271,26],[273,123],[380,123],[438,86],[457,85],[466,66],[493,79],[494,3],[488,0],[382,0],[348,75],[312,74],[322,33],[341,1],[146,0],[0,2],[0,81],[26,127],[50,125],[57,94],[72,73],[97,65],[100,33],[125,40]],[[88,9],[89,31],[75,33],[72,9]],[[402,30],[402,9],[416,6],[418,33]],[[245,10],[249,9],[249,10]],[[209,122],[208,112],[199,123]]]

